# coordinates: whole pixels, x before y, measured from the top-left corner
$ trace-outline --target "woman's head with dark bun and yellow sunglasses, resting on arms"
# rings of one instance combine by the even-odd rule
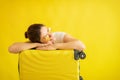
[[[52,40],[52,36],[49,33],[49,28],[43,24],[32,24],[25,32],[25,37],[31,42],[46,43],[48,40]]]

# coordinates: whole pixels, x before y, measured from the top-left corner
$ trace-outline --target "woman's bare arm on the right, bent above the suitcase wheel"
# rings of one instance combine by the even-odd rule
[[[55,43],[44,47],[37,47],[36,49],[40,49],[40,50],[76,49],[82,51],[85,49],[85,45],[80,40],[77,40],[72,36],[66,34],[64,36],[63,43]]]

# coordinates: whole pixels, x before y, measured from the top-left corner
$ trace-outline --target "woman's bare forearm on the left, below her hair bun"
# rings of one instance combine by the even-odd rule
[[[12,44],[9,48],[8,51],[11,53],[19,53],[23,50],[31,49],[34,47],[37,47],[39,43],[24,43],[24,42],[18,42]]]

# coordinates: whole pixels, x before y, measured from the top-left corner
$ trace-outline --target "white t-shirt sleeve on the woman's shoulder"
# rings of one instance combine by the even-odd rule
[[[65,34],[65,32],[54,32],[53,37],[55,38],[55,43],[62,43]]]

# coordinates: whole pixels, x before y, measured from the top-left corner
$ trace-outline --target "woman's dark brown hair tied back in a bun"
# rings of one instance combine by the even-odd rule
[[[40,43],[40,29],[43,24],[32,24],[29,26],[28,30],[25,32],[25,38],[28,38],[31,42]]]

